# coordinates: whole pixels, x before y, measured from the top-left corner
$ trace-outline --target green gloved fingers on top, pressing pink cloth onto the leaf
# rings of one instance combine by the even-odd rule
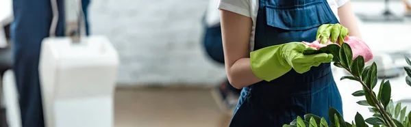
[[[321,40],[321,44],[327,44],[328,40],[338,44],[343,44],[344,38],[349,35],[349,31],[343,25],[336,24],[325,24],[321,25],[316,34],[316,40]]]

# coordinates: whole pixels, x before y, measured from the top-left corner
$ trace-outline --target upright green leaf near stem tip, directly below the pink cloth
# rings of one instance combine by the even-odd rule
[[[350,68],[353,61],[353,52],[347,43],[341,44],[339,56],[341,65],[345,68]]]

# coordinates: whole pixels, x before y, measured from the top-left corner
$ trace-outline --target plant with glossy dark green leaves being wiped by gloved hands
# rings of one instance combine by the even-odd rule
[[[375,62],[371,66],[364,66],[364,57],[358,56],[353,59],[351,47],[345,42],[341,46],[330,44],[321,48],[319,52],[332,53],[334,55],[334,66],[343,68],[351,74],[350,76],[343,76],[341,80],[349,79],[362,85],[362,89],[355,91],[352,95],[364,97],[364,100],[357,103],[369,107],[373,117],[364,118],[357,112],[353,122],[345,122],[336,109],[329,108],[329,122],[331,123],[327,123],[323,117],[306,114],[303,117],[297,117],[297,119],[290,124],[285,124],[283,127],[368,127],[368,124],[383,127],[411,127],[411,112],[406,113],[406,107],[401,107],[401,103],[394,106],[393,100],[391,100],[390,81],[383,79],[381,85],[377,88],[377,94],[373,91],[377,85],[377,65]],[[410,59],[406,57],[406,61],[411,66]],[[404,67],[404,70],[408,74],[406,83],[411,86],[411,68]]]

